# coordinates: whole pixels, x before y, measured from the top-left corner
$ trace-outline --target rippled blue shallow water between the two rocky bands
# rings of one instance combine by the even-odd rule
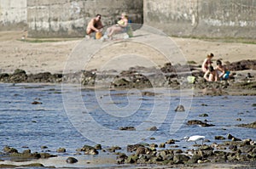
[[[212,144],[220,142],[214,139],[216,135],[228,133],[256,139],[255,129],[236,127],[256,120],[253,96],[192,97],[191,92],[181,95],[181,91],[164,88],[145,96],[138,90],[95,92],[43,84],[0,84],[0,91],[0,151],[8,145],[19,152],[31,149],[57,154],[55,150],[64,147],[73,155],[84,144],[160,144],[190,135],[204,135],[211,141],[207,144]],[[185,104],[186,112],[174,111],[179,103]],[[199,116],[204,113],[208,116]],[[189,120],[207,120],[215,126],[188,126]],[[128,126],[137,130],[119,130]],[[158,131],[147,131],[154,126]],[[193,144],[180,141],[175,145],[188,149]],[[41,149],[42,145],[48,149]]]

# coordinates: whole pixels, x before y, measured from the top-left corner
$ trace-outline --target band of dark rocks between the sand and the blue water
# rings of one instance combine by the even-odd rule
[[[131,67],[118,72],[108,70],[81,70],[68,74],[51,74],[41,72],[26,74],[25,70],[17,69],[13,74],[0,74],[3,83],[81,83],[84,87],[103,87],[113,89],[170,87],[172,89],[194,88],[204,90],[203,94],[222,95],[241,89],[241,95],[255,95],[256,80],[250,73],[256,70],[256,60],[241,60],[226,65],[232,75],[227,81],[206,82],[200,70],[200,65],[172,65],[166,63],[160,69],[146,67]],[[249,70],[247,74],[237,73],[239,70]],[[189,77],[195,80],[189,80]],[[239,94],[239,93],[236,93]]]

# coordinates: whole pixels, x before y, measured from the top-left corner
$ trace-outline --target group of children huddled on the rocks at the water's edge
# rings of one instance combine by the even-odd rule
[[[226,70],[220,59],[216,60],[216,67],[212,66],[212,58],[214,54],[207,54],[207,58],[201,65],[201,70],[204,72],[204,78],[208,82],[217,82],[219,80],[226,80],[230,76],[230,71]]]

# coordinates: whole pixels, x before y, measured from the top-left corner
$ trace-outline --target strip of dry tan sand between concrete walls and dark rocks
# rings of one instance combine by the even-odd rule
[[[127,69],[129,66],[134,65],[163,65],[168,61],[159,51],[148,47],[147,42],[146,45],[136,42],[137,40],[143,41],[143,38],[147,38],[149,42],[151,40],[154,41],[153,37],[148,36],[148,34],[142,31],[135,31],[135,37],[132,37],[127,42],[118,43],[118,41],[114,41],[111,45],[108,45],[111,42],[100,42],[99,40],[92,39],[86,40],[84,38],[42,39],[44,42],[25,42],[21,41],[23,34],[24,32],[22,31],[0,32],[0,73],[12,73],[17,68],[26,70],[28,73],[43,71],[49,71],[51,73],[62,72],[67,65],[69,56],[76,54],[78,49],[74,49],[81,45],[86,48],[95,48],[93,50],[96,52],[96,57],[90,59],[90,63],[86,69],[102,69],[102,67],[104,69],[107,69],[107,67],[108,69]],[[241,59],[256,59],[255,44],[210,42],[178,37],[171,37],[171,39],[174,42],[173,44],[176,43],[177,48],[181,49],[183,58],[187,61],[195,61],[197,65],[201,65],[201,62],[209,53],[215,55],[214,59],[223,59],[224,63],[226,61],[234,62]],[[28,40],[32,41],[35,39]],[[53,40],[55,42],[51,42]],[[162,40],[156,43],[166,44]],[[99,46],[102,44],[104,48]],[[98,47],[102,49],[97,49]],[[74,52],[72,53],[72,51]],[[127,59],[125,52],[119,54],[116,51],[129,51],[129,54],[133,52],[136,54],[131,56],[130,59]],[[137,57],[138,55],[142,55],[142,57]],[[83,54],[79,57],[83,57]],[[77,63],[81,62],[83,58],[79,57],[73,61]]]

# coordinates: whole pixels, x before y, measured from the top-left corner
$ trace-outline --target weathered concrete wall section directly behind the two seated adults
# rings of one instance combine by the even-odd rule
[[[143,0],[27,0],[28,36],[82,37],[96,14],[112,25],[122,12],[142,23]]]

